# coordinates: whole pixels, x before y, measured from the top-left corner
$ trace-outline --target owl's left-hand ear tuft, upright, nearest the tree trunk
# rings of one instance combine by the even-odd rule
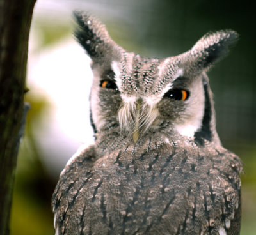
[[[108,60],[116,59],[118,49],[121,48],[110,38],[104,24],[84,11],[74,11],[74,19],[77,24],[74,36],[93,63],[106,63]]]

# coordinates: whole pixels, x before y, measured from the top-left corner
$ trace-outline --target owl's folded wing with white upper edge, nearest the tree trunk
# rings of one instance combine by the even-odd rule
[[[92,178],[93,163],[97,160],[94,146],[79,148],[77,153],[70,158],[60,174],[60,179],[52,195],[52,210],[54,212],[54,227],[56,234],[76,234],[65,231],[67,229],[68,211],[71,211],[74,201],[78,200],[81,190]],[[77,211],[81,216],[81,211]],[[67,216],[68,217],[68,216]],[[74,225],[76,227],[76,225]],[[61,230],[61,231],[60,231]]]

